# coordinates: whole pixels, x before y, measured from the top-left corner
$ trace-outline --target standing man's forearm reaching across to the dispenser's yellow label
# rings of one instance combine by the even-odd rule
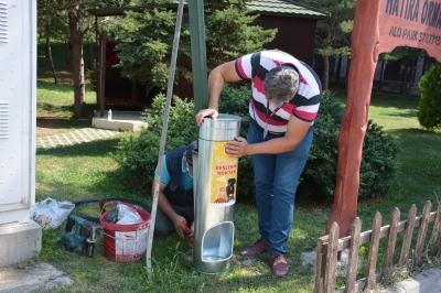
[[[234,141],[228,141],[225,149],[229,156],[238,158],[250,154],[289,152],[299,145],[310,127],[311,122],[305,122],[295,116],[291,116],[283,137],[254,144],[248,144],[244,138],[236,138]]]

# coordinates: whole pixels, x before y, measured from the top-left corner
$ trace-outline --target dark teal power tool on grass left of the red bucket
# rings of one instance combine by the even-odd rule
[[[75,231],[73,228],[75,227]],[[65,232],[58,240],[66,250],[76,251],[89,258],[94,257],[96,235],[103,234],[101,227],[82,217],[69,215]]]

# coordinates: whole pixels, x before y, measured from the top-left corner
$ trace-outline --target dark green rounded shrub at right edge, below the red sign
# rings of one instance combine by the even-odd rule
[[[432,64],[418,84],[418,121],[429,130],[441,128],[441,64]]]

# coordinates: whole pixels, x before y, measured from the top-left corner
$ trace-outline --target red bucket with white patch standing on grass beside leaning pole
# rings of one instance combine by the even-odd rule
[[[111,210],[101,213],[99,223],[105,232],[103,237],[104,254],[110,261],[138,261],[147,250],[150,214],[142,208],[119,200],[106,203],[103,206],[103,210],[111,204],[121,204],[133,208],[143,221],[129,225],[108,223],[106,221],[106,217]]]

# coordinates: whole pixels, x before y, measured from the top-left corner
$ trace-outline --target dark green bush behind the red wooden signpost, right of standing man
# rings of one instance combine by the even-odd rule
[[[323,94],[319,116],[315,119],[314,139],[301,176],[298,197],[301,200],[332,202],[334,198],[338,132],[343,119],[343,106],[331,91]],[[383,131],[383,127],[368,121],[359,174],[358,197],[385,195],[396,171],[398,145]]]

